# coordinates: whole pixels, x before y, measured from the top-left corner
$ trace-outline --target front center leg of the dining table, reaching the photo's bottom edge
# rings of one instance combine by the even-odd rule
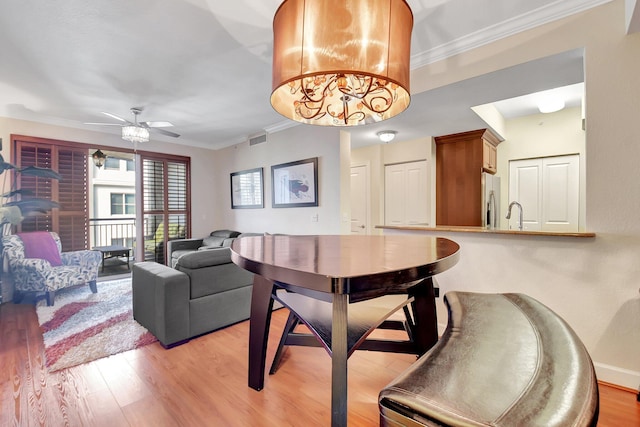
[[[347,310],[346,294],[333,295],[331,324],[331,426],[347,425]]]

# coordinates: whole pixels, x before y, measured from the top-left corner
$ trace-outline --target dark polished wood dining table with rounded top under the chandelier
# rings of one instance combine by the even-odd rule
[[[377,324],[372,322],[372,328],[354,340],[355,322],[350,324],[349,306],[406,294],[413,322],[409,352],[424,354],[438,341],[434,276],[453,267],[459,252],[454,241],[432,236],[264,235],[235,239],[232,261],[254,273],[249,387],[258,391],[264,387],[274,299],[296,310],[306,323],[305,310],[300,308],[304,305],[289,307],[289,300],[279,298],[278,292],[295,294],[298,300],[322,301],[330,305],[329,331],[317,338],[325,341],[331,356],[331,425],[346,426],[347,358]]]

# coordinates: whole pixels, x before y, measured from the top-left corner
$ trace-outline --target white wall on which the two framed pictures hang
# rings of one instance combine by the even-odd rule
[[[341,212],[348,209],[341,208],[341,201],[344,205],[343,191],[349,190],[349,171],[341,160],[348,141],[341,143],[341,138],[344,136],[341,137],[339,128],[301,125],[269,134],[267,142],[262,144],[242,143],[218,150],[212,168],[215,185],[207,191],[207,197],[216,200],[217,226],[243,232],[341,234],[345,227],[342,224],[345,221],[341,221],[343,214],[347,215],[346,226],[351,220],[348,211]],[[271,166],[311,157],[318,157],[318,206],[272,208]],[[265,207],[231,209],[229,175],[257,167],[264,168]],[[345,172],[346,179],[342,178]],[[312,221],[315,216],[317,222]]]

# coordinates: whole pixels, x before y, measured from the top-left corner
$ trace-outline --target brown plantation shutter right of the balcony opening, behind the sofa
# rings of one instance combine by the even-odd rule
[[[144,259],[167,263],[167,242],[190,235],[190,160],[142,154]]]

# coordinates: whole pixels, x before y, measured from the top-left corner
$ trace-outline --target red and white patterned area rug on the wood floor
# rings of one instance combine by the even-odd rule
[[[133,320],[131,279],[98,283],[96,294],[89,286],[60,291],[54,302],[36,306],[51,372],[157,341]]]

